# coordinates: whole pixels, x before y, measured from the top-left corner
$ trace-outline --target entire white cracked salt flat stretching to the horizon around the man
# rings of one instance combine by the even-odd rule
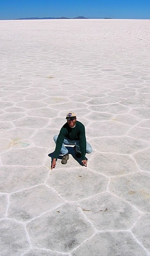
[[[0,31],[1,255],[150,255],[150,21],[9,20]],[[93,152],[86,168],[68,147],[51,170],[68,111]]]

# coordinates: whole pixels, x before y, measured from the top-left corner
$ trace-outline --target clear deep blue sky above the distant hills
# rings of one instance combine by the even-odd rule
[[[0,19],[62,16],[150,19],[150,0],[0,0]]]

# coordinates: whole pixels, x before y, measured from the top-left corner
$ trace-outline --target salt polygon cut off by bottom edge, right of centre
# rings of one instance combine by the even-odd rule
[[[96,234],[86,243],[79,246],[71,256],[147,256],[144,248],[134,240],[130,232],[105,232]]]

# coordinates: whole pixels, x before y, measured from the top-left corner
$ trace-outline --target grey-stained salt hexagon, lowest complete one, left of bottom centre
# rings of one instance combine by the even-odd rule
[[[69,252],[94,233],[92,225],[74,204],[64,204],[27,224],[36,247]]]

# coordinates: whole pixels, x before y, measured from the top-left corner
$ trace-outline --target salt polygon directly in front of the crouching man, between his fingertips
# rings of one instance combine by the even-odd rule
[[[47,180],[59,194],[69,201],[78,201],[94,194],[105,191],[108,178],[93,171],[84,171],[81,168],[68,170],[54,170]],[[70,187],[71,184],[71,187]]]

